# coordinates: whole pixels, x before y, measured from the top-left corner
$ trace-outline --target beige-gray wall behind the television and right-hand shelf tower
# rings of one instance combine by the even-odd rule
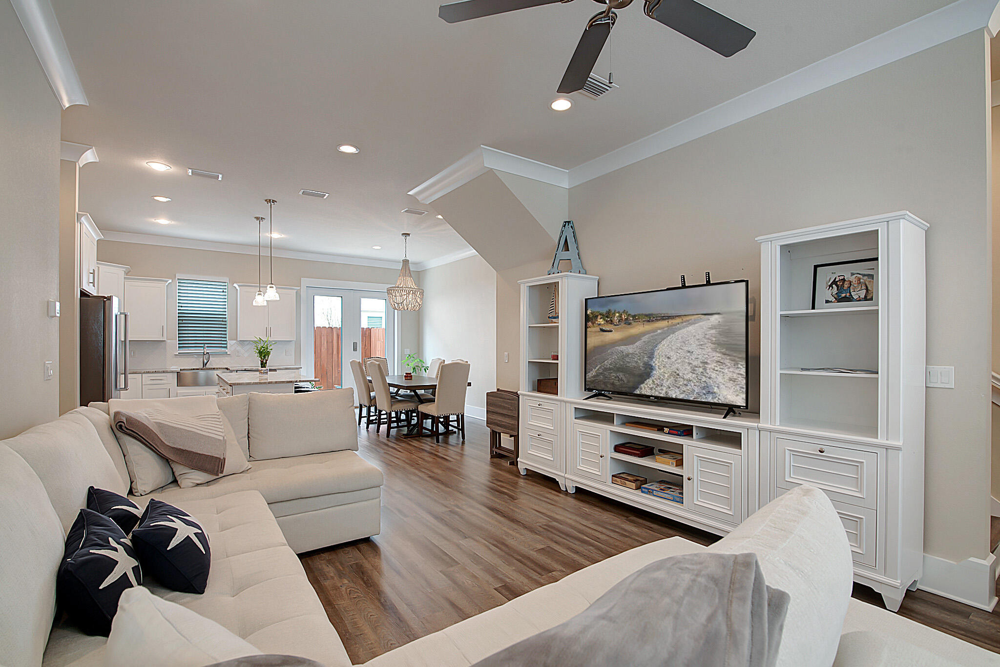
[[[926,220],[927,363],[954,366],[955,389],[927,391],[925,551],[953,561],[985,557],[988,542],[986,53],[977,31],[570,191],[602,294],[711,271],[749,279],[759,303],[755,236],[903,209]]]

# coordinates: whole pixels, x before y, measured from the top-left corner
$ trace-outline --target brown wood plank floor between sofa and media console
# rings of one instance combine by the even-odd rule
[[[404,440],[360,429],[360,454],[385,473],[382,533],[304,554],[302,564],[354,663],[499,606],[641,544],[715,535],[488,458],[489,431]],[[854,596],[882,606],[871,589]],[[1000,652],[990,614],[915,591],[899,613]]]

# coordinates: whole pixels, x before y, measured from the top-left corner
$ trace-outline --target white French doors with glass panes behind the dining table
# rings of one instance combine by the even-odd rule
[[[354,387],[351,359],[385,357],[396,367],[395,311],[385,292],[307,287],[303,309],[312,331],[312,370],[324,389]],[[308,334],[303,343],[309,345]]]

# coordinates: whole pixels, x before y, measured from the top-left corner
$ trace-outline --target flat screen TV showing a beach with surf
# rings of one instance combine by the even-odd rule
[[[747,407],[746,280],[587,299],[584,387]]]

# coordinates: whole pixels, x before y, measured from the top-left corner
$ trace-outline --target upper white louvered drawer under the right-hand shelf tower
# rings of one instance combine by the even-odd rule
[[[873,510],[877,506],[878,454],[874,451],[776,435],[773,457],[776,491],[811,484],[831,500]]]

